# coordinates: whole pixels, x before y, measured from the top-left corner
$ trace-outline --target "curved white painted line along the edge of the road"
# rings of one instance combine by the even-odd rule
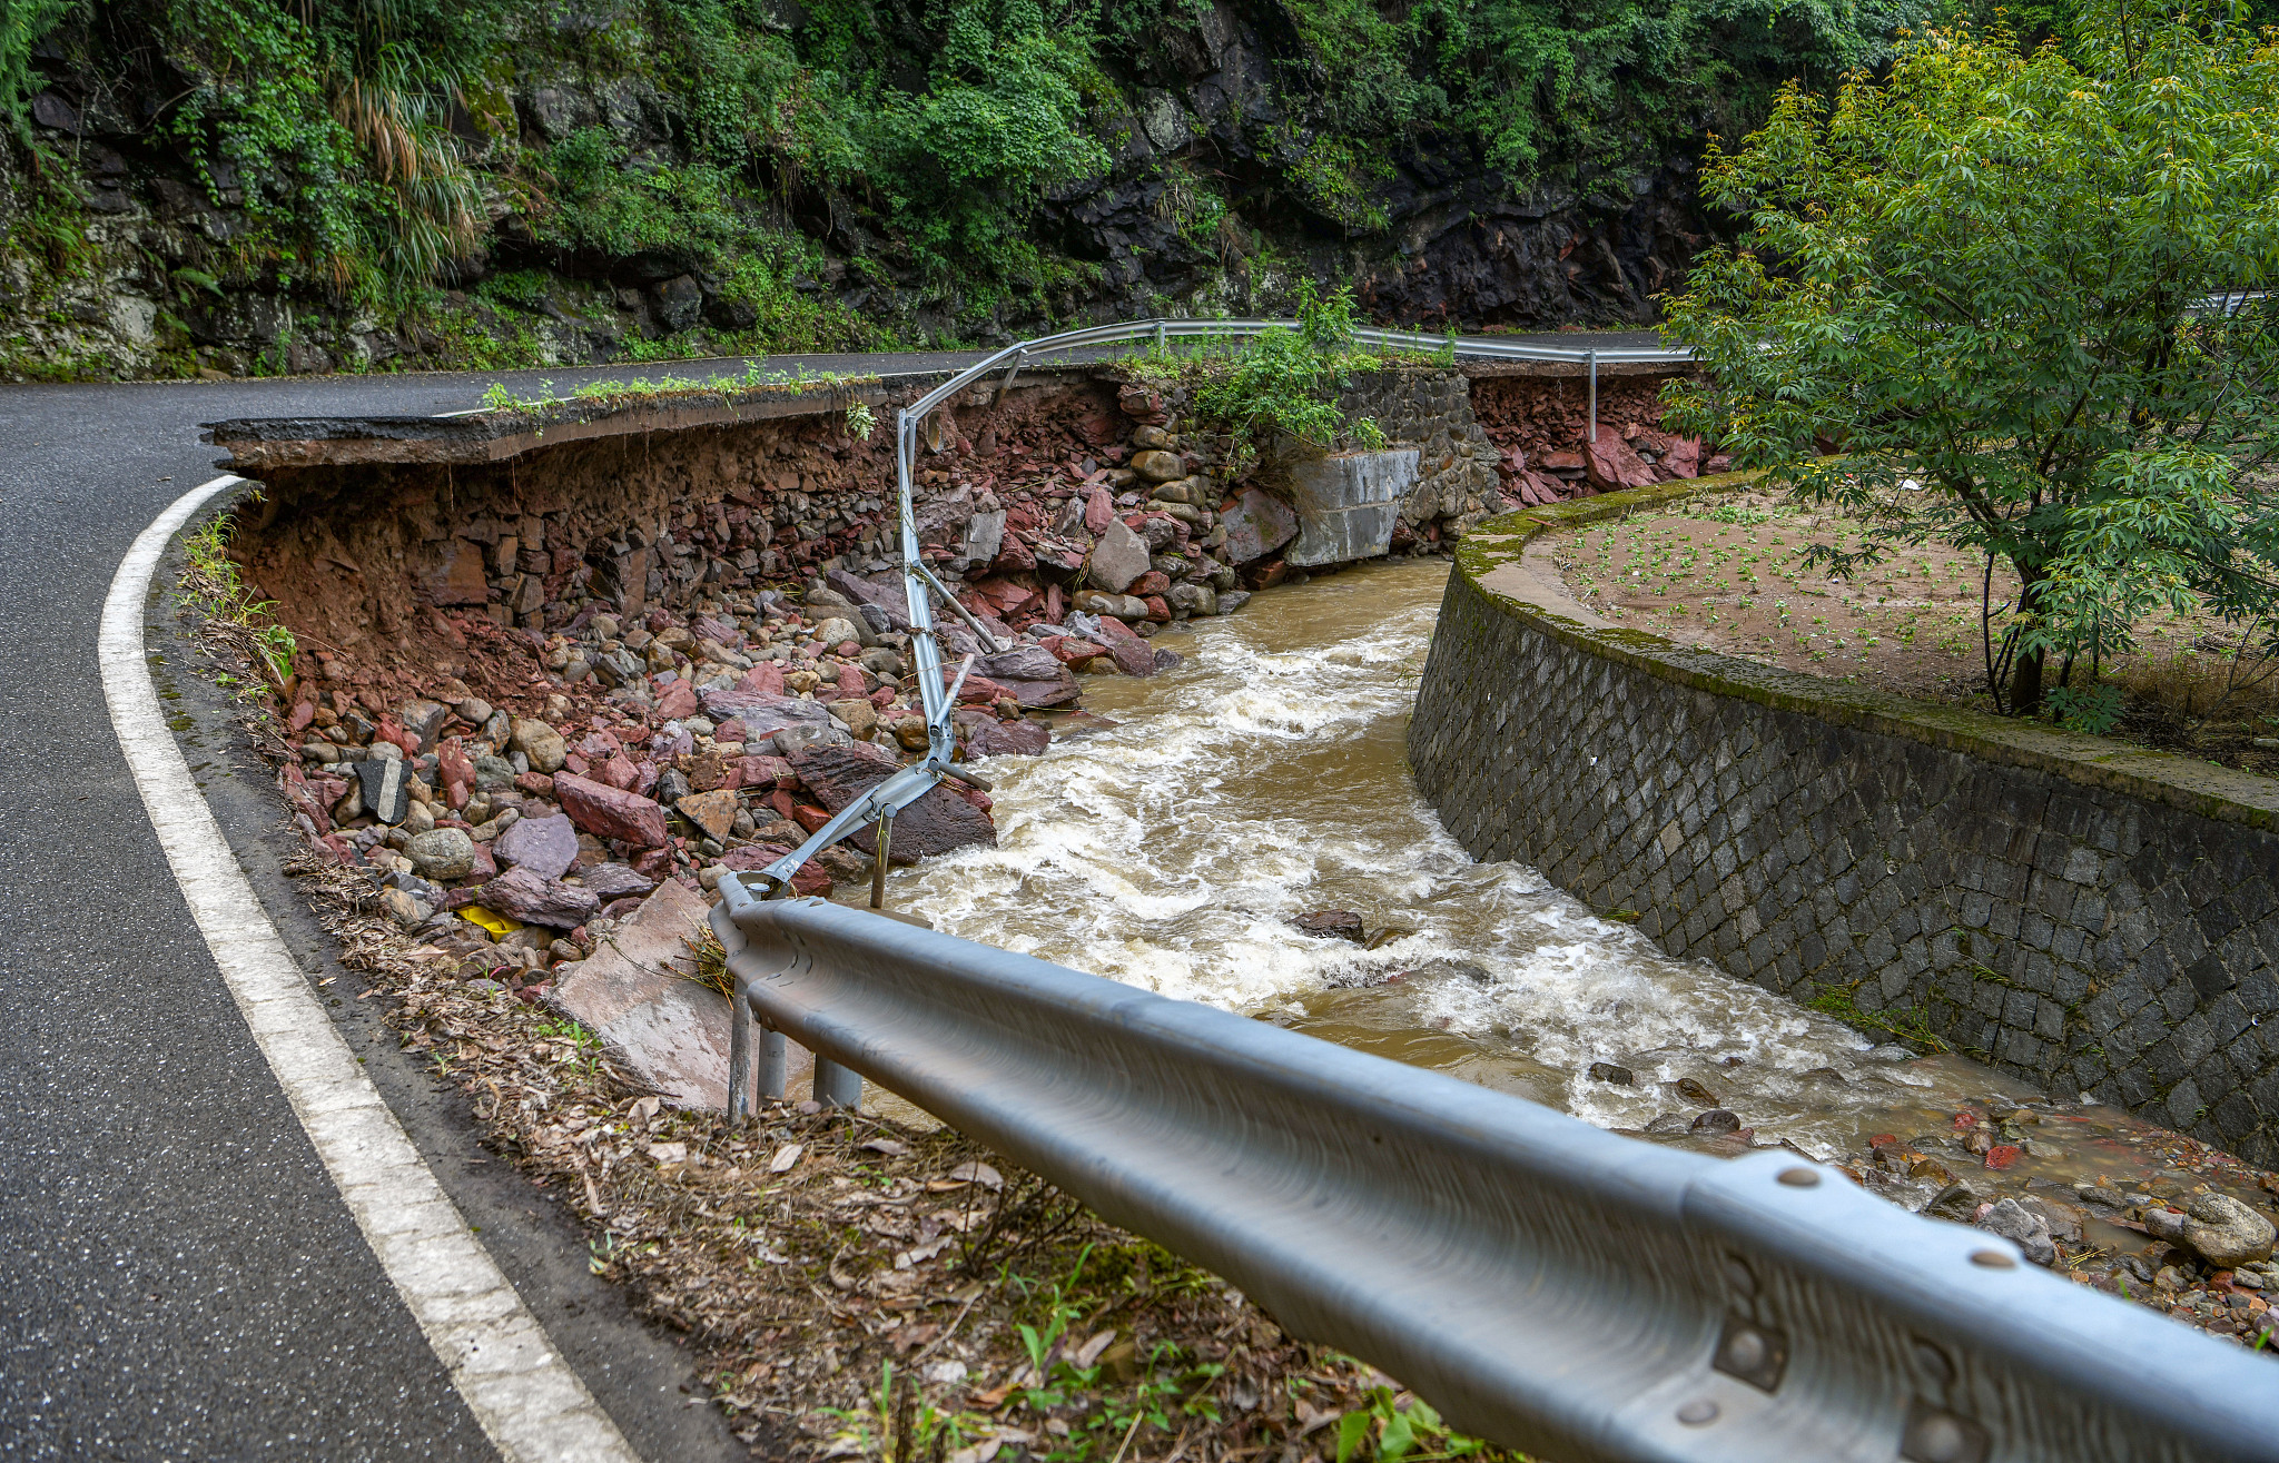
[[[166,729],[144,649],[150,577],[219,476],[157,515],[112,577],[96,636],[112,729],[221,980],[451,1386],[513,1463],[640,1463],[444,1196],[317,1003]]]

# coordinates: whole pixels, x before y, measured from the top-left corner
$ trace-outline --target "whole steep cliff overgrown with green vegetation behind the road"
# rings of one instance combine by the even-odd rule
[[[36,0],[0,14],[0,346],[43,374],[121,340],[107,369],[859,349],[1276,308],[1304,273],[1379,319],[1641,321],[1707,237],[1705,132],[1910,18]]]

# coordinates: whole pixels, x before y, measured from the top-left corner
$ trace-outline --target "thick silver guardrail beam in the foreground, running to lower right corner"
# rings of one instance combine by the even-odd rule
[[[2270,1358],[1837,1169],[1616,1137],[1026,955],[720,889],[738,1005],[818,1053],[818,1092],[873,1078],[1470,1433],[1561,1463],[2279,1458]]]

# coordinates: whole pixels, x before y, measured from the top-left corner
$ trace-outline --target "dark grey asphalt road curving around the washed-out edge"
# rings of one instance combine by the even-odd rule
[[[531,390],[663,369],[0,387],[0,1458],[492,1456],[175,893],[112,736],[96,620],[130,540],[214,476],[201,422],[447,412],[497,378]],[[210,798],[276,889],[273,811],[226,779]],[[280,927],[324,964],[312,925],[287,909]],[[679,1395],[672,1342],[586,1278],[574,1226],[504,1164],[481,1169],[458,1114],[387,1069],[392,1044],[371,1037],[351,1041],[374,1053],[374,1080],[627,1438],[650,1458],[725,1456],[713,1411]]]

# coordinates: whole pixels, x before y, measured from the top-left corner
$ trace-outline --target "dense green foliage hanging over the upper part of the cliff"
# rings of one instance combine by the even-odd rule
[[[1887,55],[1889,14],[1832,0],[1237,0],[1272,96],[1199,118],[1240,137],[1155,166],[1196,248],[1258,248],[1299,203],[1383,230],[1399,160],[1500,171],[1509,196],[1627,201],[1627,173],[1762,116],[1794,75]],[[16,132],[30,43],[93,75],[141,68],[153,141],[253,228],[194,262],[230,289],[285,283],[433,314],[495,267],[602,278],[672,251],[768,344],[877,344],[818,296],[855,283],[991,299],[1087,287],[1098,264],[1037,228],[1105,175],[1146,87],[1203,55],[1203,0],[30,0],[0,18]],[[622,100],[561,134],[533,84]],[[1279,118],[1279,121],[1276,121]],[[836,280],[836,276],[834,276]],[[513,283],[492,299],[508,299]],[[508,294],[499,294],[504,289]],[[706,292],[711,296],[711,285]],[[1048,310],[1046,310],[1048,312]]]

